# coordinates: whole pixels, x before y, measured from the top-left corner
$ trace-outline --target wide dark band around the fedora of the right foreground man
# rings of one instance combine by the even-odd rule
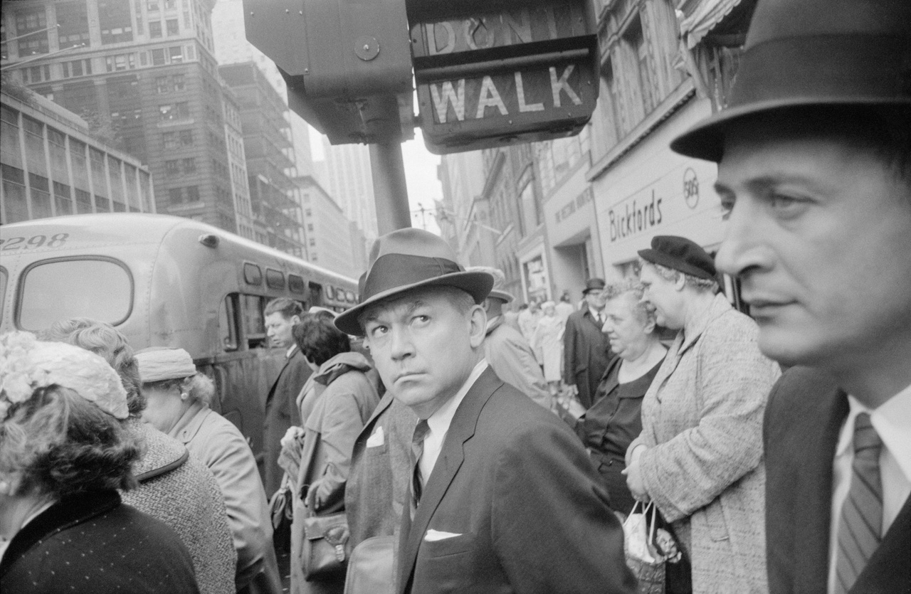
[[[778,38],[747,49],[728,108],[783,98],[911,102],[911,42],[838,34]]]

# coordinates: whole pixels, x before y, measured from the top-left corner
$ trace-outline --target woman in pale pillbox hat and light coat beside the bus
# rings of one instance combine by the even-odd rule
[[[241,431],[210,409],[215,386],[197,373],[183,349],[149,348],[136,353],[142,417],[187,446],[209,466],[224,496],[237,550],[235,586],[239,592],[281,592],[266,493],[256,460]]]

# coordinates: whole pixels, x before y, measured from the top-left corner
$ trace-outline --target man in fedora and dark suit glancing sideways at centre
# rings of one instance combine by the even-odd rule
[[[397,592],[631,592],[619,521],[576,436],[484,358],[493,277],[424,230],[379,238],[360,303],[384,384],[420,419]]]

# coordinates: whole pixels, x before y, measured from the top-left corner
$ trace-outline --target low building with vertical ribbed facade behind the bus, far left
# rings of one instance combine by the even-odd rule
[[[155,212],[148,168],[87,122],[14,82],[0,88],[0,224],[89,212]]]

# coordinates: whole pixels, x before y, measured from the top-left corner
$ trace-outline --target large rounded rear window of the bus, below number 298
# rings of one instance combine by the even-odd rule
[[[16,320],[23,330],[43,330],[75,317],[116,326],[127,320],[133,306],[127,268],[100,258],[38,262],[26,269],[20,287]]]

